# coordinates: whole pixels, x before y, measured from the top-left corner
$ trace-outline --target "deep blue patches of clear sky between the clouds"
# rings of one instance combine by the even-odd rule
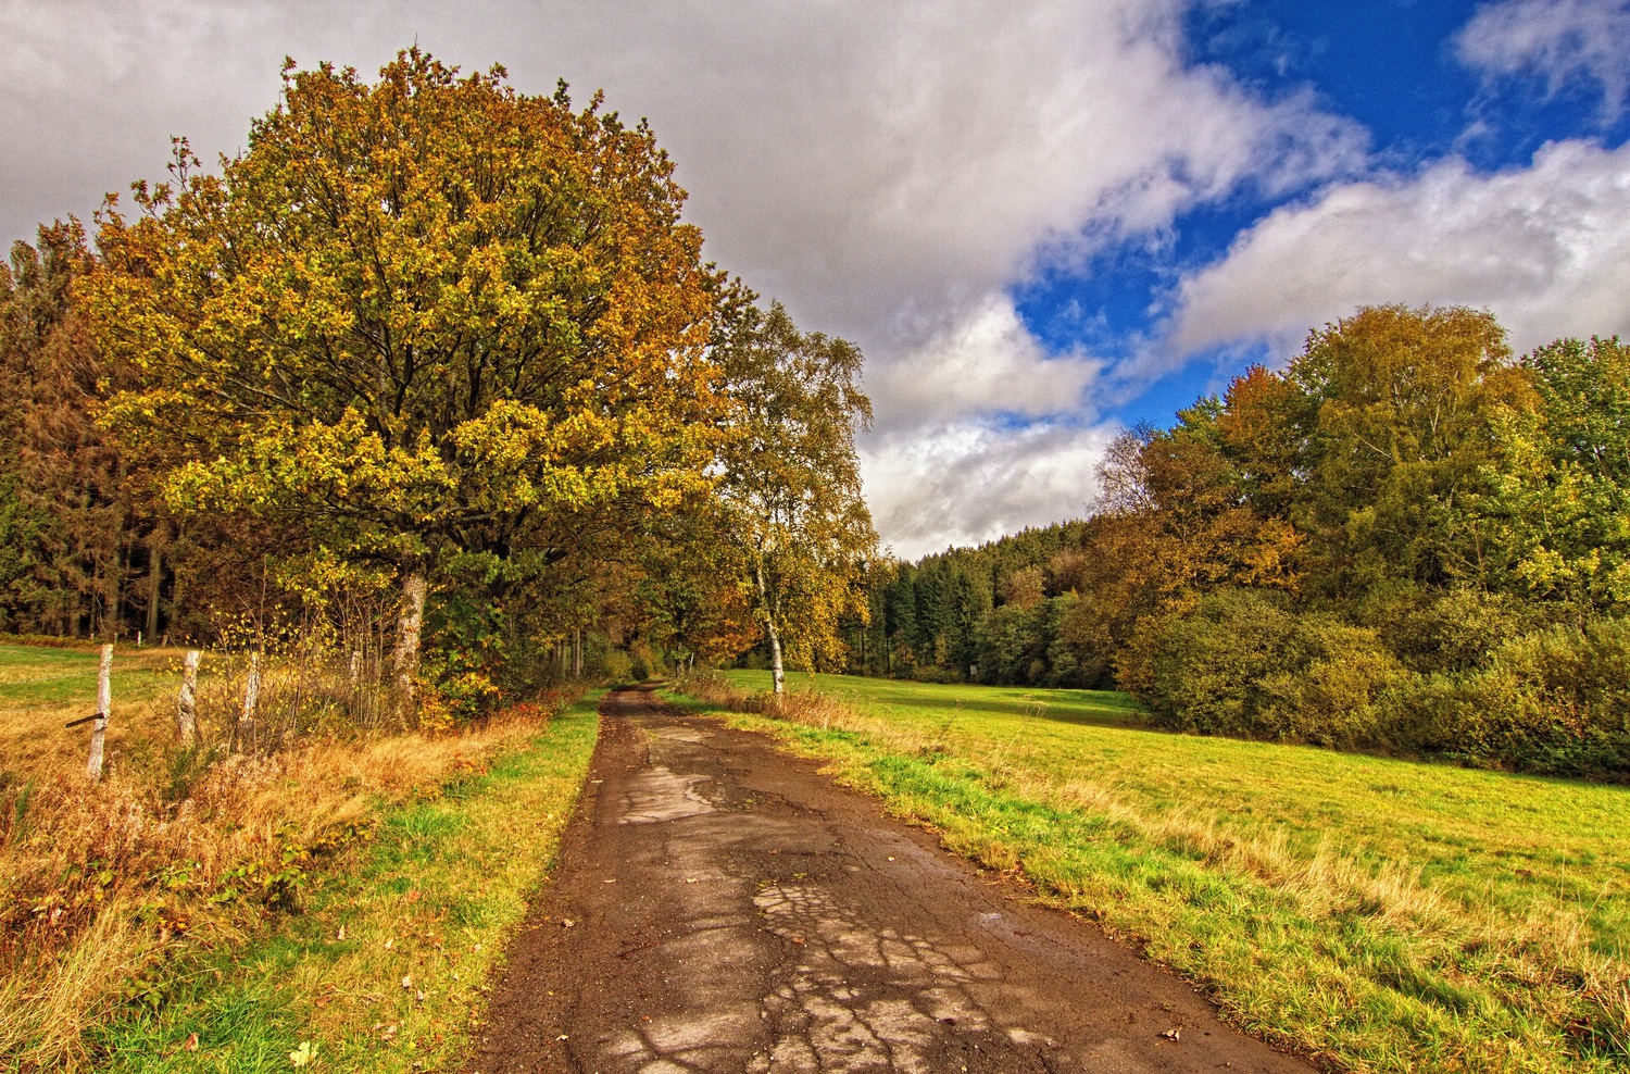
[[[1457,156],[1490,174],[1526,166],[1545,142],[1625,142],[1630,111],[1614,114],[1602,83],[1588,72],[1550,85],[1544,70],[1488,78],[1465,62],[1457,34],[1480,7],[1490,5],[1198,3],[1183,18],[1185,59],[1221,67],[1268,99],[1312,93],[1319,108],[1363,125],[1372,168],[1410,171]],[[1289,200],[1307,194],[1288,192]],[[1050,350],[1086,346],[1128,357],[1157,321],[1151,311],[1162,310],[1187,271],[1219,261],[1240,231],[1286,200],[1286,192],[1245,186],[1177,215],[1159,235],[1099,253],[1084,271],[1040,272],[1014,290],[1019,313]],[[1397,300],[1420,302],[1403,293]],[[1242,363],[1283,357],[1283,347],[1265,341],[1201,352],[1104,414],[1128,425],[1169,425],[1178,407],[1214,393]]]

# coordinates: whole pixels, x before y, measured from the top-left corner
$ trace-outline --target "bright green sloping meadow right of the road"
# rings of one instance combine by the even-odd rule
[[[1353,1071],[1630,1064],[1630,789],[1151,732],[1108,693],[815,688],[846,704],[735,719],[1242,1028]]]

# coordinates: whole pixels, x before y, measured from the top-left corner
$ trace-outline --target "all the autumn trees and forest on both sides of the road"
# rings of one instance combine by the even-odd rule
[[[1519,359],[1485,311],[1359,310],[1123,435],[1090,518],[905,564],[861,499],[859,354],[701,264],[598,101],[417,52],[290,68],[246,153],[178,143],[134,200],[0,277],[7,631],[321,639],[401,724],[756,647],[1630,771],[1617,339]]]

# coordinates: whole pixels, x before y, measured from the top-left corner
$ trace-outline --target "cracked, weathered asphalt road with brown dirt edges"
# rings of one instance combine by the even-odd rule
[[[761,735],[601,715],[471,1071],[1311,1069]]]

